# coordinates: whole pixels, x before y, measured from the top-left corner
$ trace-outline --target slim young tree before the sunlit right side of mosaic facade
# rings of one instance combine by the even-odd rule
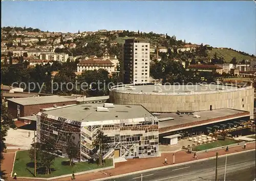
[[[93,146],[96,148],[95,150],[99,150],[99,166],[102,165],[102,153],[103,151],[108,151],[109,150],[109,143],[110,142],[110,137],[107,135],[104,135],[104,133],[101,130],[98,130],[96,139],[93,142]]]

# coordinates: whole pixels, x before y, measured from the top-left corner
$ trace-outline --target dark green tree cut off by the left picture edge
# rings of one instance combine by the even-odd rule
[[[2,71],[1,71],[2,72]],[[3,93],[1,93],[1,163],[4,160],[3,152],[6,149],[5,137],[10,128],[15,129],[16,126],[12,119],[12,115],[8,111],[6,103],[3,101]],[[1,175],[4,175],[4,171],[1,170]],[[3,176],[2,176],[3,178]]]

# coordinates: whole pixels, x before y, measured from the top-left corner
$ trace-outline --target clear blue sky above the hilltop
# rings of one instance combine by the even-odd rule
[[[77,32],[133,30],[176,35],[256,54],[252,1],[14,1],[2,3],[2,27]]]

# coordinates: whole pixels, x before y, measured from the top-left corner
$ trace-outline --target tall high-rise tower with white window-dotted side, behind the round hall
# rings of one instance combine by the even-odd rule
[[[150,82],[150,42],[146,39],[126,39],[123,44],[123,82]]]

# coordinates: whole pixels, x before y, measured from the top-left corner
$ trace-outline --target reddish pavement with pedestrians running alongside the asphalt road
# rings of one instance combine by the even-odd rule
[[[250,149],[255,149],[255,143],[247,144],[245,150],[250,150]],[[228,153],[235,153],[235,152],[242,152],[242,151],[244,151],[243,145],[239,147],[229,148]],[[219,155],[224,155],[227,153],[225,149],[201,153],[201,154],[198,154],[198,160],[205,159],[207,157],[216,156],[216,152],[218,152]],[[178,151],[175,153],[175,164],[194,161],[195,159],[193,158],[193,155],[194,154],[188,154],[185,151]],[[140,170],[162,167],[162,166],[166,166],[163,164],[165,157],[167,158],[168,164],[173,164],[173,153],[162,153],[160,157],[153,157],[148,159],[127,159],[127,162],[116,163],[115,164],[116,168],[110,169],[110,170],[104,170],[104,172],[108,174],[111,173],[112,176],[114,176],[114,175],[121,175],[125,173],[136,172]],[[95,172],[95,173],[89,173],[84,175],[77,175],[76,180],[93,180],[93,179],[106,178],[106,177],[109,177],[109,175],[105,175],[101,172]],[[70,180],[70,178],[69,177],[60,178],[56,180]]]

